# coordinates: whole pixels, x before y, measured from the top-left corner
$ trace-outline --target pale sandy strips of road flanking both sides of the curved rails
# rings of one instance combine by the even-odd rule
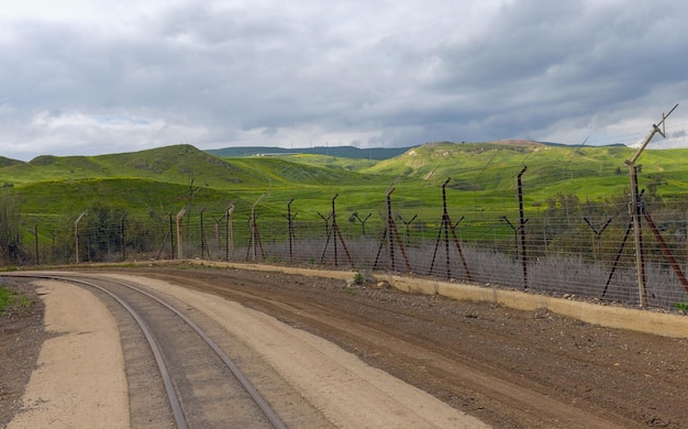
[[[224,343],[223,349],[231,350],[238,358],[243,371],[252,374],[256,387],[264,391],[265,398],[288,427],[487,427],[433,396],[366,365],[336,345],[263,312],[148,277],[93,274],[89,278],[93,276],[136,282],[176,301],[180,310],[204,326],[207,333]],[[78,278],[82,277],[79,275]],[[165,406],[160,407],[159,416],[152,416],[153,420],[136,420],[133,413],[134,408],[141,408],[141,402],[147,407],[154,405],[155,402],[147,398],[149,395],[133,398],[130,389],[130,404],[122,400],[124,389],[112,388],[112,381],[115,386],[125,386],[121,382],[124,363],[131,362],[126,355],[121,356],[114,320],[118,316],[110,315],[112,308],[108,310],[90,290],[63,280],[34,283],[45,297],[47,329],[56,337],[45,342],[38,359],[40,369],[32,374],[24,394],[23,409],[8,428],[123,428],[129,422],[130,413],[132,421],[138,421],[134,427],[169,427]],[[140,346],[145,348],[145,344]],[[237,352],[245,348],[253,352]],[[100,351],[99,354],[91,355],[93,350]],[[126,370],[130,373],[129,364]],[[276,382],[277,377],[269,374],[275,371],[286,383]],[[130,387],[140,383],[138,378],[129,377],[129,381]],[[209,388],[206,386],[199,393],[208,396]],[[108,392],[112,398],[108,398]],[[210,407],[214,406],[211,404]],[[200,413],[200,408],[192,409]],[[220,413],[226,417],[218,422],[241,419],[241,416],[234,416],[241,415],[240,409],[213,409],[215,415]],[[257,420],[244,421],[241,426],[267,427]]]

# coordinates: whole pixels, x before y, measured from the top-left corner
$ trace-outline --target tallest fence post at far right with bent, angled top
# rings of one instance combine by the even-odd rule
[[[645,278],[645,258],[643,256],[643,234],[642,234],[642,226],[641,219],[643,216],[643,206],[640,199],[639,188],[637,188],[637,166],[635,162],[637,161],[641,153],[645,150],[645,146],[650,143],[652,138],[655,136],[656,133],[659,133],[663,138],[666,139],[664,122],[672,114],[672,112],[678,107],[678,105],[674,106],[672,110],[667,114],[662,113],[662,121],[657,124],[652,125],[652,131],[641,146],[637,148],[635,154],[631,160],[626,160],[625,163],[629,166],[629,176],[631,178],[631,206],[629,207],[629,211],[631,217],[633,218],[633,239],[635,241],[635,267],[637,274],[637,295],[639,295],[639,305],[641,307],[645,307],[647,305],[647,285]],[[662,127],[662,129],[659,129]]]

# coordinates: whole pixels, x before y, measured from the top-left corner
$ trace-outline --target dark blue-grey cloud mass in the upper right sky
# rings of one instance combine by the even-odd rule
[[[685,16],[686,8],[652,4],[590,11],[581,2],[513,2],[487,25],[489,34],[445,48],[445,79],[433,89],[470,94],[478,110],[508,118],[503,127],[513,134],[621,107],[684,79],[677,70],[686,45],[662,40],[658,29]]]

